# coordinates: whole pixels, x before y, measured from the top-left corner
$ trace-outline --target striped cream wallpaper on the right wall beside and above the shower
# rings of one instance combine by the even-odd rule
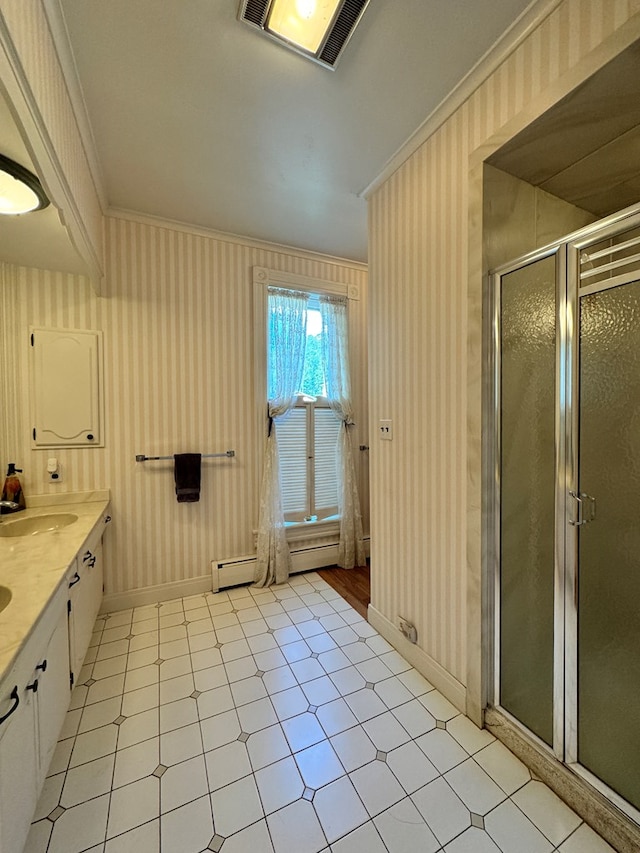
[[[639,14],[638,0],[560,3],[369,200],[369,415],[394,429],[371,449],[372,604],[415,623],[422,651],[470,686],[476,719],[482,182],[470,165],[596,70]]]

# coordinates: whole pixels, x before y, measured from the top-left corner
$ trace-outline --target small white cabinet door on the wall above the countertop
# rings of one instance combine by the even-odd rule
[[[102,332],[30,330],[33,447],[102,447]]]

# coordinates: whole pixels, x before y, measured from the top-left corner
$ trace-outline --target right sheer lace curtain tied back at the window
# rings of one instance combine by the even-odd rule
[[[322,316],[322,360],[327,399],[342,421],[338,436],[338,512],[340,543],[338,565],[344,569],[365,564],[362,513],[351,450],[349,427],[353,425],[353,405],[349,378],[349,338],[347,301],[335,296],[320,296]]]

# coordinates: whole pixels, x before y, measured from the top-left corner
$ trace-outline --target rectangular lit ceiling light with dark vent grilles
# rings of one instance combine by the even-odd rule
[[[369,0],[241,0],[239,18],[335,68]]]

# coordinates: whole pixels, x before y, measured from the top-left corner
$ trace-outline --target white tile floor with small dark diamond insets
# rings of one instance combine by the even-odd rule
[[[98,619],[26,853],[605,853],[317,574]]]

